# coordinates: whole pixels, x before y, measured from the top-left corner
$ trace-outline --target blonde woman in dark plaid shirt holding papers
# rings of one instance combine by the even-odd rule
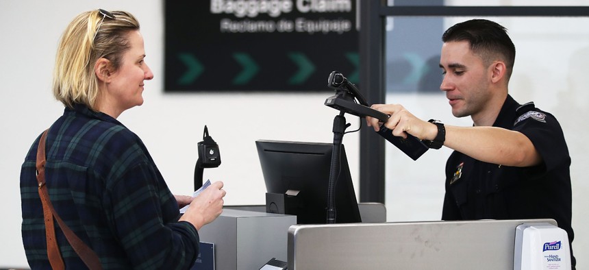
[[[215,182],[196,199],[175,197],[140,138],[116,120],[143,103],[145,81],[153,78],[145,56],[139,23],[128,12],[92,10],[68,25],[53,79],[65,109],[45,140],[45,186],[55,212],[103,269],[188,269],[198,255],[198,230],[221,214],[225,191]],[[50,269],[36,180],[39,140],[21,169],[22,233],[29,266]],[[86,268],[58,223],[55,238],[65,268]]]

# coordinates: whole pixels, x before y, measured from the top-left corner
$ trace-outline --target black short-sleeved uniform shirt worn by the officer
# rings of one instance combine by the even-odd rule
[[[509,167],[454,151],[446,164],[442,220],[549,218],[572,243],[571,157],[558,121],[534,103],[522,106],[507,95],[493,126],[527,136],[542,156],[542,164]]]

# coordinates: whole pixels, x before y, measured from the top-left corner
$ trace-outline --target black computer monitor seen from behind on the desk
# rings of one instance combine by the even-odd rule
[[[258,156],[268,193],[298,191],[296,205],[285,214],[297,214],[299,224],[327,223],[327,189],[331,169],[329,143],[257,140]],[[336,223],[361,222],[358,201],[350,175],[346,151],[340,151],[340,169],[334,190]]]

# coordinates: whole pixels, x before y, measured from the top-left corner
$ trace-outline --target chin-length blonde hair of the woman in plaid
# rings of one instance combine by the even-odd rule
[[[139,30],[139,22],[128,12],[111,12],[111,19],[92,10],[76,16],[66,28],[55,56],[53,95],[64,106],[82,103],[92,110],[98,96],[99,80],[94,66],[100,58],[110,60],[109,69],[121,66],[129,49],[127,34]]]

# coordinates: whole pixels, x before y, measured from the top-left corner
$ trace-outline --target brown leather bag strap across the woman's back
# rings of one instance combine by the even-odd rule
[[[72,230],[62,221],[60,216],[49,199],[47,186],[45,186],[45,140],[47,132],[43,132],[39,140],[39,147],[37,149],[37,182],[39,183],[39,196],[43,205],[43,217],[45,218],[45,235],[47,236],[47,256],[49,256],[49,263],[53,269],[64,269],[64,261],[60,254],[58,242],[55,239],[55,228],[53,227],[53,217],[58,221],[60,228],[64,232],[68,242],[73,247],[74,251],[84,261],[84,264],[89,269],[102,269],[100,260],[96,253],[88,247]]]

